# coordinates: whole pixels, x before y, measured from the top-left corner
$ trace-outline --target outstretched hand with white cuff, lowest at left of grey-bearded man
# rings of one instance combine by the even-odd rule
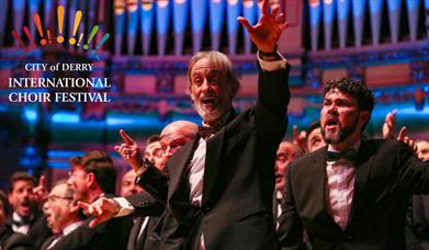
[[[94,228],[97,225],[113,218],[118,208],[115,202],[106,197],[100,197],[92,204],[78,202],[78,206],[83,209],[84,214],[94,216],[89,223],[90,228]]]

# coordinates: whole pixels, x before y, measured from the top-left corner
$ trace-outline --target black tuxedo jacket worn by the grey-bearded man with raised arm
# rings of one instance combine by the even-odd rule
[[[160,249],[196,249],[201,232],[208,250],[279,248],[273,166],[287,125],[287,72],[261,71],[257,104],[207,139],[201,207],[190,203],[188,169],[200,138],[171,157]]]

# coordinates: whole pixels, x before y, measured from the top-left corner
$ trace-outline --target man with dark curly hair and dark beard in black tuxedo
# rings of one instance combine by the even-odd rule
[[[320,112],[327,146],[289,168],[282,246],[300,249],[405,249],[411,194],[429,193],[429,162],[403,141],[364,139],[371,91],[348,78],[325,86]]]

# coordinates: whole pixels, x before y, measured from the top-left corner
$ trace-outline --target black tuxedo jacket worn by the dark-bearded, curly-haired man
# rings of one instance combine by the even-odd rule
[[[342,230],[325,207],[326,147],[289,168],[280,236],[300,248],[303,228],[314,249],[405,249],[407,201],[429,192],[429,163],[402,141],[362,140],[349,221]]]

